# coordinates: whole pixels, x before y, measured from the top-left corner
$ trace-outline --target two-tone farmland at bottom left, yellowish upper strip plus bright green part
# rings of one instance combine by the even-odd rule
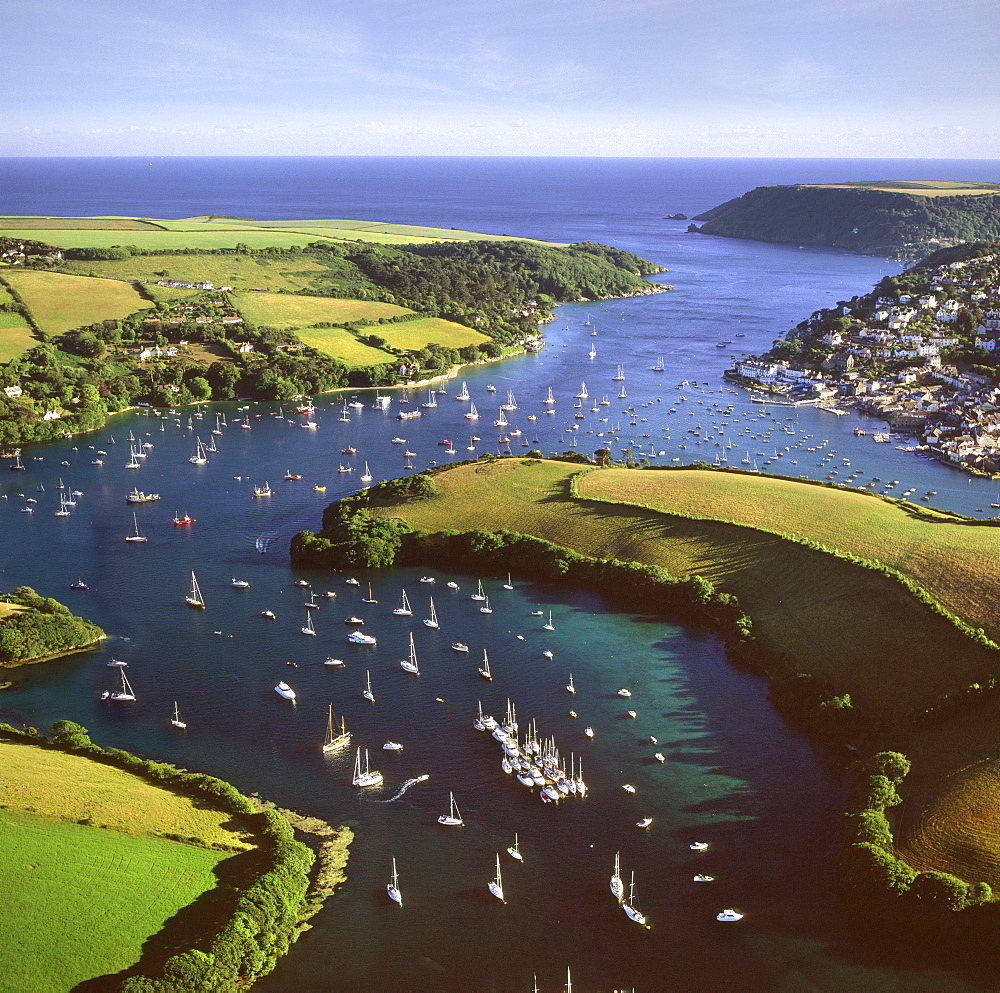
[[[231,816],[80,755],[0,741],[0,989],[66,991],[146,941],[250,847]]]

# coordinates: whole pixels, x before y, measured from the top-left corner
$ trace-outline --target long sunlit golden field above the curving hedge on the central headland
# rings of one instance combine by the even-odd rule
[[[580,495],[811,538],[898,569],[973,627],[1000,639],[1000,527],[929,507],[753,474],[627,469],[592,473]]]

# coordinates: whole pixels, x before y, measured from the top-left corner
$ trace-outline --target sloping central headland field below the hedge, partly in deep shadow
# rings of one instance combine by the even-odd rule
[[[765,643],[848,690],[856,707],[880,720],[898,720],[1000,668],[997,653],[970,642],[894,580],[756,528],[594,498],[593,478],[616,470],[584,475],[588,498],[574,500],[568,484],[577,472],[520,459],[461,466],[435,476],[439,497],[382,512],[430,530],[507,528],[587,555],[705,576],[739,597]],[[610,496],[610,482],[599,482]]]

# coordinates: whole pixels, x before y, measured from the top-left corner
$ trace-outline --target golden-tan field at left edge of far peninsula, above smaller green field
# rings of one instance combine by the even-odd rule
[[[39,328],[52,335],[153,306],[131,283],[117,279],[21,269],[6,270],[4,279],[21,295]]]

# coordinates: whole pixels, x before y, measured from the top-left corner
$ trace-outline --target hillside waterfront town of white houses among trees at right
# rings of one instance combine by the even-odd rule
[[[887,422],[877,441],[902,438],[1000,478],[998,277],[996,246],[938,252],[865,296],[816,311],[765,355],[736,360],[726,378],[778,402],[852,407]]]

